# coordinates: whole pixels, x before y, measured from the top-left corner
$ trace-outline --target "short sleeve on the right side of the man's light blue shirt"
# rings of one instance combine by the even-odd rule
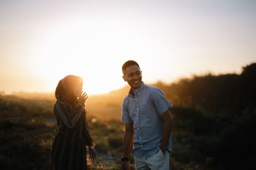
[[[173,105],[165,98],[165,94],[158,88],[152,90],[151,98],[159,115],[173,107]]]

